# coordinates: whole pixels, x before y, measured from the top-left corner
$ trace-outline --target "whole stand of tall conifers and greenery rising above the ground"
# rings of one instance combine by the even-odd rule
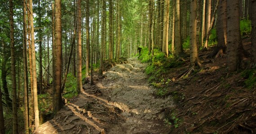
[[[33,131],[93,84],[93,73],[134,56],[151,63],[156,87],[168,81],[159,78],[164,70],[152,73],[163,61],[188,63],[183,79],[226,56],[226,72],[249,69],[254,90],[253,7],[254,0],[0,0],[0,132]]]

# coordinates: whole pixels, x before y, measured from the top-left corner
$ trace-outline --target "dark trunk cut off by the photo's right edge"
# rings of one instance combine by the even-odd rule
[[[256,0],[252,0],[252,64],[256,67]]]

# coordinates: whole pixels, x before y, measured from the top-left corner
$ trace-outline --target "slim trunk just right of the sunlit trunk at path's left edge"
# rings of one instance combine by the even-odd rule
[[[86,2],[86,75],[89,75],[90,66],[90,13],[89,0]]]

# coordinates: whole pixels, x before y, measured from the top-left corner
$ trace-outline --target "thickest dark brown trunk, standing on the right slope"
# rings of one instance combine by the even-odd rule
[[[228,71],[237,71],[241,53],[241,35],[239,21],[239,0],[227,0],[227,65]]]

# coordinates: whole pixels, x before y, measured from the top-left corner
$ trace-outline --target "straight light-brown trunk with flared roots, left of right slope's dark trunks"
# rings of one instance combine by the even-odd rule
[[[196,27],[197,27],[197,0],[191,0],[190,3],[190,65],[194,69],[195,64],[201,67],[198,48],[196,42]]]

